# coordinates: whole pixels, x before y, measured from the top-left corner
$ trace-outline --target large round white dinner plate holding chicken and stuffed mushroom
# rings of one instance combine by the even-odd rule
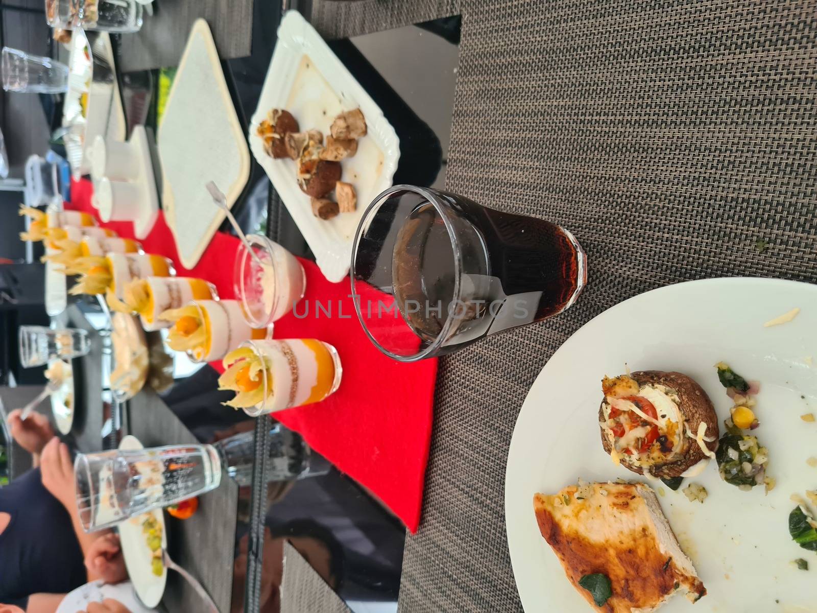
[[[800,307],[787,324],[764,323]],[[789,496],[817,488],[817,286],[769,279],[712,279],[656,289],[610,308],[574,333],[551,357],[528,393],[508,451],[505,516],[516,586],[525,611],[590,611],[565,577],[539,533],[535,492],[555,494],[582,477],[645,481],[615,466],[601,447],[598,407],[605,374],[677,370],[708,393],[723,420],[732,405],[713,365],[724,360],[744,378],[761,383],[753,432],[769,448],[768,495],[728,485],[712,462],[699,477],[708,498],[691,503],[678,490],[649,481],[694,562],[706,597],[694,605],[675,597],[661,611],[768,613],[817,611],[815,554],[788,534]],[[790,562],[805,558],[812,570]],[[775,602],[779,600],[779,603]]]

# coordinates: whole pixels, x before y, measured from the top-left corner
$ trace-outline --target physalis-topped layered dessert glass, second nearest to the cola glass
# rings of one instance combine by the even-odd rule
[[[266,338],[266,328],[247,323],[238,300],[193,300],[184,307],[164,311],[170,322],[167,345],[186,351],[194,362],[221,360],[242,342]]]

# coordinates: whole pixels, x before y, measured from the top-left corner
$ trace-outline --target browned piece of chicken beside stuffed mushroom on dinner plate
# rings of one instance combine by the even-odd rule
[[[676,593],[692,602],[707,593],[646,485],[569,485],[556,495],[534,494],[534,512],[570,583],[596,611],[648,613]],[[612,591],[602,606],[578,583],[597,573]]]

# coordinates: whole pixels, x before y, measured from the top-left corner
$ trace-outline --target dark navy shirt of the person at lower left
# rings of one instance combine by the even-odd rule
[[[39,468],[0,488],[0,602],[25,606],[36,593],[68,593],[87,580],[71,517],[42,486]]]

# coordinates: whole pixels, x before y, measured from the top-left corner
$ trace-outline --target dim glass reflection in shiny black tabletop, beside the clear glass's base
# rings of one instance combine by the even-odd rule
[[[295,481],[324,475],[329,470],[326,459],[310,450],[300,434],[279,423],[270,428],[268,445],[267,481]],[[241,432],[218,441],[214,446],[221,454],[221,464],[227,474],[241,486],[251,485],[255,464],[254,433]]]

